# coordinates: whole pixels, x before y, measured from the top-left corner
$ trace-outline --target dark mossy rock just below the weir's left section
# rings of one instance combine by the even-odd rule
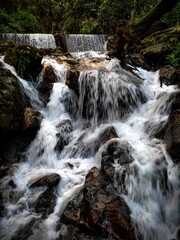
[[[44,52],[30,45],[20,45],[8,48],[5,53],[5,62],[13,65],[22,78],[36,79],[42,69],[41,60]]]

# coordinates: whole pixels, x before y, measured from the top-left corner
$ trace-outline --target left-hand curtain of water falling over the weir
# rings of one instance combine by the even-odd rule
[[[37,48],[56,48],[56,43],[53,34],[16,34],[3,33],[0,34],[0,42],[13,41],[17,46],[28,44]]]

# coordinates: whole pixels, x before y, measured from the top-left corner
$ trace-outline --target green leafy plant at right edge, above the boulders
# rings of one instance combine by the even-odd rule
[[[174,51],[167,55],[166,60],[167,62],[175,68],[180,68],[180,42],[177,38],[170,39],[171,44],[174,47]]]

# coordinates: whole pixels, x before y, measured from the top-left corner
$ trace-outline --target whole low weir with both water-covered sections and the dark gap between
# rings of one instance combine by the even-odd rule
[[[107,36],[103,34],[0,34],[0,43],[15,42],[16,46],[28,44],[37,48],[60,47],[63,52],[104,52]]]

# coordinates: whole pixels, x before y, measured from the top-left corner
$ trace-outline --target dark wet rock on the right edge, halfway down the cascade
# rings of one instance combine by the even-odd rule
[[[166,149],[175,162],[179,162],[180,156],[180,109],[172,112],[167,123],[164,135]]]

